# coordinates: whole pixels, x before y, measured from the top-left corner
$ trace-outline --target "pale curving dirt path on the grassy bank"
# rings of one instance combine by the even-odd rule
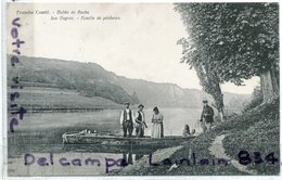
[[[255,170],[248,170],[246,166],[241,165],[238,160],[232,159],[226,154],[226,150],[223,147],[222,140],[226,138],[226,134],[217,136],[213,141],[211,145],[209,146],[209,152],[217,158],[225,158],[230,160],[231,165],[234,166],[238,170],[249,173],[249,175],[257,175]]]

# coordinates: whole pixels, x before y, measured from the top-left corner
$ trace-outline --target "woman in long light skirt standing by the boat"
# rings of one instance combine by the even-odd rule
[[[152,117],[152,138],[163,138],[164,137],[164,116],[159,113],[157,107],[153,108],[153,117]]]

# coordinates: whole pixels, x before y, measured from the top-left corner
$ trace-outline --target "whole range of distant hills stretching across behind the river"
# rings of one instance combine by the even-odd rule
[[[9,57],[9,55],[8,55]],[[95,63],[79,63],[44,57],[21,56],[17,64],[24,86],[77,90],[84,97],[101,97],[116,103],[163,107],[200,107],[208,95],[196,89],[182,89],[174,83],[129,79],[105,70]],[[8,66],[9,79],[15,72]],[[241,107],[251,95],[223,93],[228,106]]]

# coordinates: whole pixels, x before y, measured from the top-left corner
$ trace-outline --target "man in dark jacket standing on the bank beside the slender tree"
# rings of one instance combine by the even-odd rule
[[[211,126],[214,124],[214,110],[208,105],[207,100],[203,101],[203,112],[201,115],[201,123],[203,131],[206,132],[207,130],[211,130]]]

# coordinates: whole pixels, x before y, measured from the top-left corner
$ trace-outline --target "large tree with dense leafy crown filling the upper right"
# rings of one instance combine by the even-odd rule
[[[175,10],[189,33],[183,62],[208,64],[220,82],[238,86],[260,76],[264,101],[278,94],[278,3],[178,3]]]

